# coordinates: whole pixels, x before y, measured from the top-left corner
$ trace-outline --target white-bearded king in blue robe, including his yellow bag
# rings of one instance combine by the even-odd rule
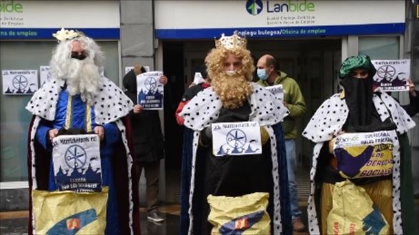
[[[133,102],[102,76],[104,54],[92,38],[64,29],[53,36],[58,45],[50,61],[52,78],[26,107],[33,115],[28,136],[29,234],[139,234],[138,181],[126,119]],[[54,152],[55,139],[80,134],[100,139],[95,157],[87,158],[78,142],[65,153]],[[92,167],[94,161],[98,168]],[[60,163],[64,165],[57,173],[54,165]],[[68,167],[65,164],[72,164],[67,172],[61,168]],[[88,173],[100,173],[100,192],[77,189],[92,185],[83,184]],[[74,175],[79,177],[71,178]],[[69,186],[76,189],[65,190],[58,176],[70,178]]]

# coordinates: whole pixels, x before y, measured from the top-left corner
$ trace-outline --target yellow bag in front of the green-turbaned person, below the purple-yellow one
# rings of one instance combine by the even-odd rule
[[[328,234],[389,234],[389,225],[367,192],[351,181],[335,184]]]

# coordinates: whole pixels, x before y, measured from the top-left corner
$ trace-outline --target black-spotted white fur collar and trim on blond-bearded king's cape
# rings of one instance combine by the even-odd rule
[[[248,102],[251,107],[249,121],[258,122],[260,126],[264,126],[264,128],[266,128],[267,132],[269,133],[269,137],[271,139],[272,177],[274,182],[273,214],[275,215],[274,218],[271,218],[271,220],[273,222],[273,234],[282,234],[283,227],[280,214],[281,186],[280,179],[278,179],[278,171],[280,171],[280,167],[278,166],[278,155],[280,153],[278,153],[277,151],[277,135],[275,135],[273,126],[275,126],[275,124],[278,124],[279,122],[282,122],[284,117],[288,115],[289,111],[288,109],[286,109],[286,107],[284,107],[284,104],[282,104],[282,102],[275,99],[273,94],[267,89],[264,89],[264,87],[261,87],[260,85],[257,85],[254,82],[251,82],[251,86],[253,87],[253,93],[248,98]],[[188,224],[188,228],[185,228],[188,234],[192,234],[194,231],[194,214],[192,213],[192,201],[194,197],[194,174],[196,170],[195,163],[196,157],[199,157],[196,156],[196,152],[199,146],[199,135],[205,127],[210,126],[210,124],[218,118],[220,108],[222,106],[223,104],[218,95],[215,93],[214,89],[212,87],[209,87],[199,92],[194,98],[192,98],[192,100],[190,100],[190,102],[188,102],[188,104],[186,104],[185,107],[183,107],[183,111],[179,114],[185,120],[184,125],[193,131],[191,145],[192,172],[190,172],[190,182],[188,182],[190,188],[187,189],[187,191],[189,192],[183,192],[186,194],[189,193],[189,197],[187,197],[188,202],[184,202],[188,205],[184,206],[182,204],[181,208],[182,212],[185,212],[185,214],[187,214],[186,216],[189,217],[189,221],[186,222],[186,224]],[[183,225],[182,220],[183,216],[181,215],[181,231]],[[186,233],[186,231],[184,232]]]

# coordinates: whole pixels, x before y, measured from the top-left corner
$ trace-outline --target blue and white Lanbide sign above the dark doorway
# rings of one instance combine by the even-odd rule
[[[161,39],[214,39],[235,31],[247,38],[403,34],[405,19],[405,1],[397,0],[155,1]]]

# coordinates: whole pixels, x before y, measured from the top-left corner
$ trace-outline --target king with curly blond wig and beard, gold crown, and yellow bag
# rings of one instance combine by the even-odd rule
[[[216,40],[206,58],[211,87],[179,114],[185,126],[180,234],[292,234],[280,124],[288,109],[251,82],[254,66],[246,45],[237,34]],[[231,155],[236,148],[230,148],[214,155],[212,124],[234,122],[260,125],[261,153]]]

